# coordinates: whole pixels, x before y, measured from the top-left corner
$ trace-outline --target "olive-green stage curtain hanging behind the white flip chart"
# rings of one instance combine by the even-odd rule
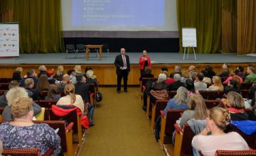
[[[182,28],[196,28],[198,53],[221,50],[221,0],[177,0],[179,47],[182,47]]]

